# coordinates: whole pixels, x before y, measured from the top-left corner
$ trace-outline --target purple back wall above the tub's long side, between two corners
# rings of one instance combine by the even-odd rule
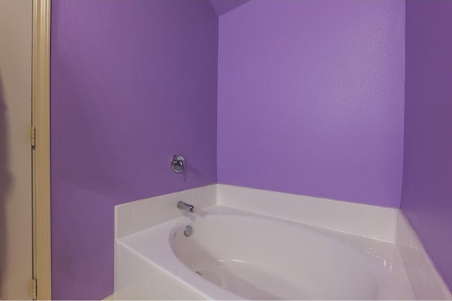
[[[251,0],[219,35],[220,183],[399,207],[405,1]]]

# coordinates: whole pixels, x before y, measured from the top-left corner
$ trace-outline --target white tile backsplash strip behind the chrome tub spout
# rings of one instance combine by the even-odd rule
[[[215,204],[216,185],[139,199],[114,207],[114,237],[122,238],[182,216],[177,202],[183,201],[201,209]]]

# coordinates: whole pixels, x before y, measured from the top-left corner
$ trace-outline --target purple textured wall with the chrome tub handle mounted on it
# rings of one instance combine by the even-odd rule
[[[208,0],[52,2],[55,299],[113,292],[115,204],[216,182],[217,66]]]

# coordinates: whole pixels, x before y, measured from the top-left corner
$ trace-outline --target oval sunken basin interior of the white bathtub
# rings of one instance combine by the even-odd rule
[[[378,265],[368,264],[363,254],[332,235],[244,215],[198,219],[190,223],[194,232],[189,237],[184,235],[186,226],[182,222],[174,228],[174,254],[191,271],[244,299],[394,297],[394,292],[380,292]]]

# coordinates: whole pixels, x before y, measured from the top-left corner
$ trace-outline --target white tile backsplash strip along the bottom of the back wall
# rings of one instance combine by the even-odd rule
[[[398,209],[218,185],[217,204],[386,242],[396,242]]]

